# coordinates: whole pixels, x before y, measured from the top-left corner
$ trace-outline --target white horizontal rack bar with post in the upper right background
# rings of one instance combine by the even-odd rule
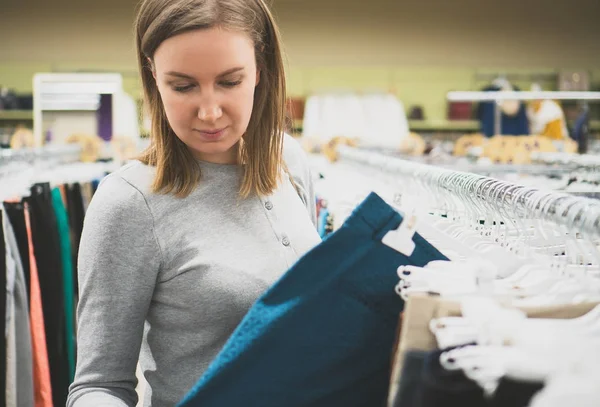
[[[496,91],[471,92],[452,91],[446,95],[451,102],[499,102],[502,100],[584,100],[600,102],[600,92],[567,92],[567,91]],[[494,105],[494,132],[501,134],[501,112],[498,103]]]

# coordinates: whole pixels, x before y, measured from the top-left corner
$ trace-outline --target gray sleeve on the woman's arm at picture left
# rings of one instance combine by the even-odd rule
[[[78,359],[68,407],[136,405],[136,364],[160,267],[145,197],[122,177],[107,177],[81,237]]]

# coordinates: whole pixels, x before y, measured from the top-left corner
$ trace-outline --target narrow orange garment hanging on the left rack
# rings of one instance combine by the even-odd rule
[[[37,263],[33,253],[29,208],[24,204],[25,226],[29,243],[29,264],[31,265],[30,327],[33,356],[33,385],[35,407],[53,407],[48,349],[46,348],[46,330],[42,309],[42,293],[38,277]]]

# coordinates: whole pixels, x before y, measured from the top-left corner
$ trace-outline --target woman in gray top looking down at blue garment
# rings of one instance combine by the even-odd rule
[[[79,253],[68,406],[174,406],[252,303],[319,243],[309,169],[283,135],[279,32],[262,0],[145,0],[152,141],[108,176]],[[139,356],[139,358],[138,358]]]

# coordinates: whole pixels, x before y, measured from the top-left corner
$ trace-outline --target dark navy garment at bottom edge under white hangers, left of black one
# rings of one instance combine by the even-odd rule
[[[440,365],[440,355],[445,351],[436,350],[426,357],[421,375],[421,389],[417,395],[416,407],[485,407],[483,389],[473,382],[462,370],[446,370]]]

